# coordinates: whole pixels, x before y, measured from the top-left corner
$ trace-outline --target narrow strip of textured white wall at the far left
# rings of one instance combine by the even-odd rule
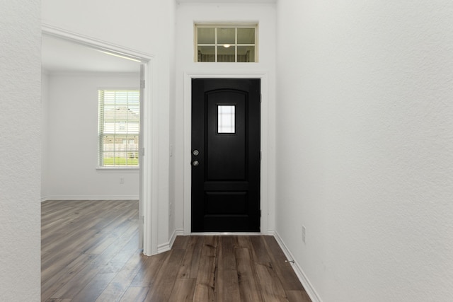
[[[0,7],[0,297],[39,301],[40,1]]]

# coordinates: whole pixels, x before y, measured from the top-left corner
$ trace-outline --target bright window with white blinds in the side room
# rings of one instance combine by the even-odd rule
[[[139,166],[140,95],[132,90],[100,90],[100,167]]]

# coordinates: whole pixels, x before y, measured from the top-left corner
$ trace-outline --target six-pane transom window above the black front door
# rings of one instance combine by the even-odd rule
[[[258,24],[195,23],[195,62],[258,62]]]

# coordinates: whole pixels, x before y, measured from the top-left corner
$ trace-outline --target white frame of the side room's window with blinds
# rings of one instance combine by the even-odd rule
[[[104,102],[105,101],[105,98],[103,98],[103,100],[101,100],[101,91],[109,91],[109,92],[112,92],[112,91],[119,91],[119,92],[124,92],[124,91],[133,91],[134,93],[138,93],[138,102],[134,103],[134,105],[138,105],[138,110],[137,110],[137,113],[139,115],[139,120],[138,120],[138,125],[137,125],[137,132],[126,132],[124,134],[107,134],[105,133],[105,131],[103,131],[103,122],[105,121],[105,115],[102,117],[101,119],[101,110],[102,112],[105,112],[105,103],[101,103],[101,102]],[[142,105],[140,103],[140,98],[139,98],[139,93],[140,93],[140,89],[138,87],[133,87],[133,88],[98,88],[98,159],[97,159],[97,167],[96,167],[96,170],[98,172],[101,172],[101,173],[108,173],[108,172],[122,172],[122,173],[138,173],[139,171],[139,168],[140,168],[140,163],[139,163],[139,140],[141,139],[140,137],[140,123],[142,122],[142,117],[140,115],[141,113],[141,110],[140,110],[140,106]],[[127,102],[128,103],[128,100]],[[117,104],[116,100],[115,100],[115,106]],[[124,105],[123,104],[120,104],[120,105]],[[101,107],[102,106],[102,107]],[[116,122],[116,120],[115,120]],[[114,123],[115,123],[114,122]],[[124,122],[124,121],[123,121]],[[125,121],[127,123],[127,121]],[[116,127],[116,125],[114,126]],[[102,132],[101,132],[102,131]],[[117,136],[117,137],[122,137],[122,136],[134,136],[134,137],[137,137],[137,149],[133,152],[137,152],[137,155],[136,155],[136,158],[137,158],[137,165],[104,165],[103,164],[103,154],[106,152],[103,150],[103,138],[105,136]],[[115,151],[114,151],[115,152]],[[128,153],[129,151],[126,149],[124,151],[125,153]],[[126,156],[127,157],[127,156]],[[125,158],[126,158],[125,157]]]

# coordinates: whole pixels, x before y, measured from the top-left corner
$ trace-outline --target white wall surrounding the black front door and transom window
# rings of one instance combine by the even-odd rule
[[[184,227],[184,209],[190,206],[190,197],[184,196],[184,173],[190,169],[190,156],[187,161],[187,154],[184,153],[184,140],[187,137],[190,127],[185,127],[184,108],[190,108],[190,95],[185,92],[185,77],[188,74],[201,76],[223,75],[228,78],[231,75],[241,74],[263,74],[266,81],[262,81],[264,112],[263,124],[266,125],[263,132],[266,133],[262,145],[263,161],[268,162],[268,173],[270,182],[262,188],[266,190],[265,207],[270,209],[268,217],[268,230],[274,229],[275,199],[273,181],[273,153],[274,127],[275,127],[275,5],[274,4],[207,4],[207,3],[183,3],[177,9],[177,47],[176,47],[176,105],[175,105],[175,138],[172,142],[173,157],[175,165],[175,215],[176,229]],[[258,22],[259,33],[259,62],[258,63],[196,63],[194,62],[194,22]],[[263,109],[264,108],[264,109]],[[190,150],[188,151],[190,154]],[[185,160],[186,158],[186,160]],[[186,168],[186,170],[185,170]],[[184,199],[185,198],[185,199]],[[187,219],[187,217],[186,217]],[[190,223],[187,221],[190,229]],[[188,224],[188,226],[187,226]]]

